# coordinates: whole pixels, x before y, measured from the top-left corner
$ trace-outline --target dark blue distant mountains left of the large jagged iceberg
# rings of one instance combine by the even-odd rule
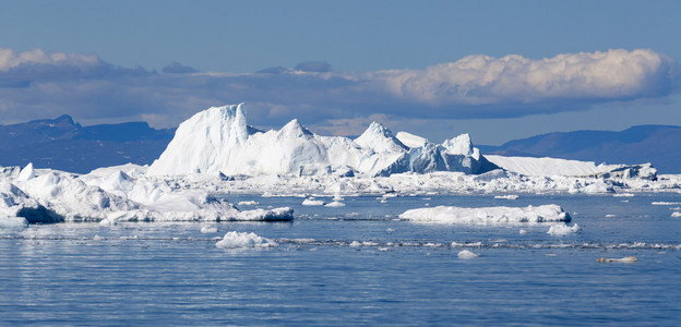
[[[128,162],[152,164],[166,149],[175,130],[145,122],[82,126],[69,116],[0,125],[0,166],[53,168],[85,173]]]

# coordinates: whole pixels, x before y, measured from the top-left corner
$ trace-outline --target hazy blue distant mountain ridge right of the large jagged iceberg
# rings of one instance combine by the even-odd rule
[[[482,154],[553,157],[596,164],[652,162],[659,173],[681,173],[681,126],[638,125],[621,132],[548,133],[478,146]]]

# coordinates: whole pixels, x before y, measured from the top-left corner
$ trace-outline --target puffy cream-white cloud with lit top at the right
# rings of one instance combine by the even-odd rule
[[[661,96],[669,92],[672,65],[652,50],[619,49],[541,60],[478,55],[379,76],[393,95],[433,107],[536,104]]]

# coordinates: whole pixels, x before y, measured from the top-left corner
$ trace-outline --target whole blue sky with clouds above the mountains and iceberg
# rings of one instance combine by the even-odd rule
[[[681,125],[681,1],[2,1],[0,124],[375,120],[440,142]]]

